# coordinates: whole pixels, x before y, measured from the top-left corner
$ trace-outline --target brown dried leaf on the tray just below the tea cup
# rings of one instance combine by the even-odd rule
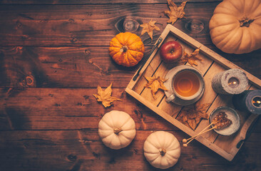
[[[208,113],[206,111],[210,107],[211,103],[205,103],[203,105],[200,105],[200,103],[196,103],[195,105],[185,107],[181,111],[180,115],[178,115],[178,120],[185,123],[185,125],[189,125],[190,128],[195,130],[198,123],[200,123],[200,120],[208,119]]]

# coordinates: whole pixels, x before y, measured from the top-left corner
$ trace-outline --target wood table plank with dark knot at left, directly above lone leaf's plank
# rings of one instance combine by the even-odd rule
[[[145,57],[150,49],[145,46]],[[225,57],[261,78],[260,53]],[[139,66],[118,66],[108,55],[108,46],[0,47],[0,86],[96,88],[113,81],[114,87],[126,88]],[[27,83],[26,78],[34,82]]]

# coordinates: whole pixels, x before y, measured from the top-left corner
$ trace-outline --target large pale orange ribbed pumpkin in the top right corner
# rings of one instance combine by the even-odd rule
[[[224,0],[210,19],[210,36],[225,53],[249,53],[261,48],[261,1]]]

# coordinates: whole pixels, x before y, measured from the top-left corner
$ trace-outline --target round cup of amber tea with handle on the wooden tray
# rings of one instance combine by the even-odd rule
[[[201,73],[190,66],[177,66],[176,72],[170,83],[172,94],[166,99],[168,103],[175,101],[175,98],[195,103],[205,90],[205,82]],[[185,104],[184,104],[185,105]]]

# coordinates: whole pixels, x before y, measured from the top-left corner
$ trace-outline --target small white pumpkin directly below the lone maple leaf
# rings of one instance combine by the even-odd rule
[[[118,150],[127,147],[135,137],[135,122],[128,113],[112,110],[98,123],[98,134],[104,145]]]

